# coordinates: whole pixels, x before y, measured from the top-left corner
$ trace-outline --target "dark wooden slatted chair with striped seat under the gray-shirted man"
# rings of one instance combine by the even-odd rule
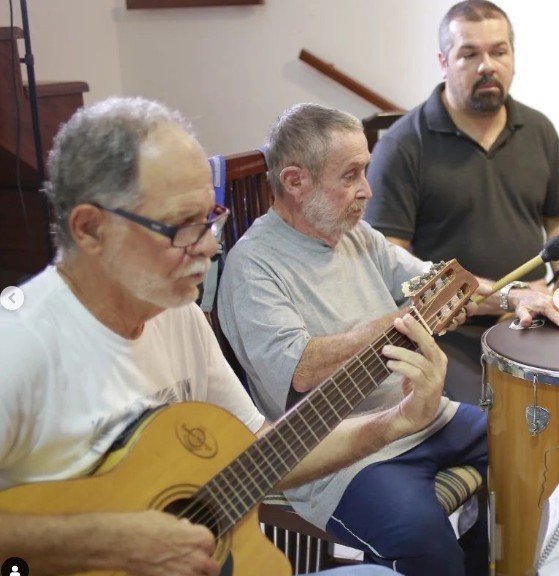
[[[224,204],[231,217],[224,230],[225,253],[244,234],[252,222],[266,213],[273,196],[266,175],[266,160],[259,150],[225,157]],[[225,357],[241,379],[246,378],[229,342],[219,326],[217,305],[206,313]],[[436,494],[441,506],[451,514],[482,485],[472,467],[456,467],[437,475]],[[282,494],[269,495],[260,506],[260,520],[266,536],[278,546],[292,564],[294,574],[307,574],[341,564],[354,563],[338,558],[334,547],[341,542],[298,516]]]

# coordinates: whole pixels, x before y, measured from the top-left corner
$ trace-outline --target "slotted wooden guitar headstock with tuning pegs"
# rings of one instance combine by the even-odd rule
[[[432,264],[422,276],[402,285],[425,324],[433,332],[442,332],[468,303],[478,281],[453,259]]]

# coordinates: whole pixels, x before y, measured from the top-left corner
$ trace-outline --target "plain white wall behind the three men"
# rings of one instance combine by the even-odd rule
[[[411,108],[440,79],[437,29],[453,0],[265,0],[262,6],[128,11],[124,0],[28,0],[35,76],[84,80],[86,102],[143,95],[182,110],[210,154],[258,146],[287,106],[364,118],[374,107],[298,59],[302,48]],[[513,95],[555,106],[555,20],[545,0],[501,0],[517,34]],[[20,3],[13,0],[16,22]],[[8,3],[0,24],[8,25]]]

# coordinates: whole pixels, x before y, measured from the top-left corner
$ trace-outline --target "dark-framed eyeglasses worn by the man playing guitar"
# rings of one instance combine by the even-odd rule
[[[105,206],[101,206],[101,204],[93,202],[92,205],[101,210],[117,214],[122,218],[126,218],[131,222],[135,222],[136,224],[151,230],[152,232],[156,232],[157,234],[169,238],[171,244],[176,248],[188,248],[189,246],[193,246],[202,239],[208,230],[211,231],[213,237],[219,242],[221,240],[223,227],[225,226],[225,222],[227,222],[230,213],[229,208],[216,204],[205,222],[194,222],[182,226],[169,226],[168,224],[163,224],[163,222],[151,220],[150,218],[134,214],[134,212],[128,212],[128,210],[122,208],[106,208]]]

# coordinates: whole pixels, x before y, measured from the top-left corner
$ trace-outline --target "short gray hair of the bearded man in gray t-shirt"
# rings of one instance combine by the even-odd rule
[[[318,104],[297,104],[277,120],[268,136],[268,178],[275,196],[283,194],[280,174],[286,166],[309,171],[318,182],[334,132],[363,132],[361,122],[346,112]]]

